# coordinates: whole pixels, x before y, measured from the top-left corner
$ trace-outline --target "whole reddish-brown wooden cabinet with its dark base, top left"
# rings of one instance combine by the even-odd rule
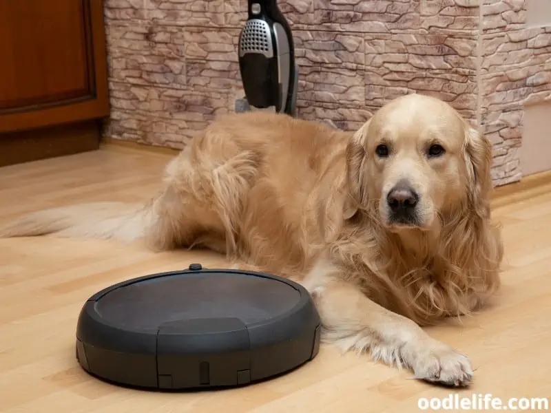
[[[102,0],[0,0],[0,165],[98,147],[105,48]]]

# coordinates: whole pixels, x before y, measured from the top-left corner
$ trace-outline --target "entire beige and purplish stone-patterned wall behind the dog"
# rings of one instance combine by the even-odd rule
[[[298,116],[355,129],[402,94],[432,94],[495,144],[495,184],[519,180],[523,105],[551,90],[551,28],[526,0],[287,0]],[[247,0],[104,0],[112,115],[105,134],[183,147],[242,98]]]

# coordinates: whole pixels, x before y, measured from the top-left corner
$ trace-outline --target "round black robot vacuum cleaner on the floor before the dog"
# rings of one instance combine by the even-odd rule
[[[76,358],[94,377],[119,385],[224,388],[310,361],[320,328],[311,296],[295,282],[191,264],[90,297],[76,327]]]

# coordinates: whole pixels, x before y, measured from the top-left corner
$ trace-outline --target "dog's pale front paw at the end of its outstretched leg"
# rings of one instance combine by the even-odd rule
[[[417,354],[412,367],[417,379],[430,383],[466,387],[472,382],[469,359],[447,346],[437,346]]]

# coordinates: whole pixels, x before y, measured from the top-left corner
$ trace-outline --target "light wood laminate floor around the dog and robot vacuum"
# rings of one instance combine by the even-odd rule
[[[145,200],[168,159],[110,147],[0,168],[0,220],[72,202]],[[515,186],[503,189],[495,200],[506,242],[497,306],[465,319],[462,327],[430,329],[474,364],[475,383],[460,396],[551,396],[551,178],[540,181],[521,193]],[[0,240],[0,411],[405,413],[418,410],[420,397],[452,391],[325,346],[291,374],[220,392],[128,390],[83,372],[74,357],[74,332],[85,299],[115,282],[191,262],[225,264],[206,252],[151,253],[44,237]]]

